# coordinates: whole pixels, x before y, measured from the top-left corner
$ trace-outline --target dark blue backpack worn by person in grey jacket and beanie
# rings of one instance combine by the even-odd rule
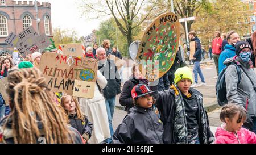
[[[232,64],[230,64],[230,65],[232,65]],[[241,69],[236,63],[233,63],[233,65],[236,66],[237,75],[238,75],[238,83],[239,83],[241,80]],[[220,105],[220,106],[225,106],[225,104],[228,103],[228,99],[226,98],[226,78],[225,78],[225,71],[227,68],[228,68],[228,66],[226,66],[218,75],[218,80],[216,82],[216,87],[215,87],[218,105]],[[238,83],[237,83],[237,85],[238,85]]]

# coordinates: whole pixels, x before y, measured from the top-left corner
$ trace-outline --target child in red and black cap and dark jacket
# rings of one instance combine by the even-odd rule
[[[113,143],[126,144],[163,144],[163,123],[152,111],[154,98],[148,85],[139,84],[131,90],[133,103],[130,113],[117,127]]]

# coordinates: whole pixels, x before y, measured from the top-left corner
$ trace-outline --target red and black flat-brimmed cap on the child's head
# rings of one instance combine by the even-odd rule
[[[143,97],[144,95],[154,93],[155,91],[150,90],[150,87],[145,84],[138,84],[131,90],[131,97],[133,99]]]

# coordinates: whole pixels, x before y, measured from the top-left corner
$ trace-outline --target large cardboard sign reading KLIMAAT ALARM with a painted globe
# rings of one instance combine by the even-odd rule
[[[39,69],[54,92],[65,92],[82,98],[91,98],[94,95],[92,93],[98,69],[96,59],[46,52],[41,57]]]

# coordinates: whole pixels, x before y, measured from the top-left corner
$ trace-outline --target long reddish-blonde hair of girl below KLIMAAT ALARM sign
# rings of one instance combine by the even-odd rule
[[[65,101],[66,101],[67,97],[71,97],[71,102],[73,101],[73,102],[75,102],[75,104],[76,104],[77,119],[84,120],[84,119],[85,119],[85,118],[84,118],[84,114],[82,114],[82,111],[81,111],[81,109],[80,109],[80,105],[79,105],[79,103],[77,102],[76,97],[73,97],[73,96],[68,95],[68,94],[65,94],[65,95],[64,95],[63,97],[61,97],[61,99],[60,99],[60,105],[61,105],[61,107],[64,108],[65,113],[66,113],[67,115],[69,115],[69,110],[66,110],[66,109],[65,109]]]

